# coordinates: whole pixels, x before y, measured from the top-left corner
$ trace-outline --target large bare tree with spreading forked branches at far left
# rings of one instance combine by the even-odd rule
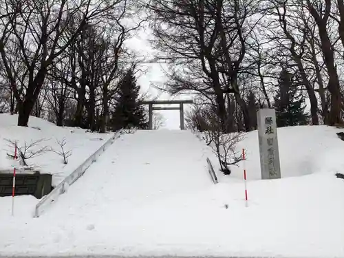
[[[63,0],[58,5],[51,0],[5,2],[7,8],[1,9],[6,17],[1,19],[1,60],[17,100],[18,125],[28,126],[29,116],[52,63],[74,42],[85,25],[102,17],[111,17],[111,12],[116,12],[114,7],[122,0],[97,3]],[[71,23],[76,28],[72,35],[68,30]],[[19,51],[14,52],[9,44],[17,45]],[[23,92],[19,90],[19,81],[10,66],[12,56],[20,56],[25,67]]]

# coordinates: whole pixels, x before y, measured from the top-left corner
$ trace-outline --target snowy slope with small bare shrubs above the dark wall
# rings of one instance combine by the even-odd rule
[[[17,127],[17,120],[17,115],[0,114],[0,170],[6,171],[12,169],[13,166],[19,166],[18,162],[8,159],[7,153],[14,155],[14,147],[7,140],[18,141],[21,147],[25,142],[31,144],[42,140],[30,151],[36,151],[42,147],[61,151],[56,140],[61,141],[65,138],[65,151],[72,151],[72,155],[68,158],[68,164],[63,164],[63,158],[52,151],[46,151],[28,160],[28,164],[41,173],[53,174],[53,185],[58,184],[69,173],[72,173],[112,136],[111,133],[86,133],[84,129],[56,127],[51,122],[36,117],[30,117],[29,127]]]

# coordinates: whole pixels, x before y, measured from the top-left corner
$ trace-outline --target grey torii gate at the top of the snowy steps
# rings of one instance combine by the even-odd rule
[[[184,130],[184,104],[192,104],[193,100],[144,100],[141,105],[149,105],[148,121],[149,130],[153,129],[153,110],[179,110],[180,111],[180,129]],[[153,105],[179,104],[179,107],[153,107]]]

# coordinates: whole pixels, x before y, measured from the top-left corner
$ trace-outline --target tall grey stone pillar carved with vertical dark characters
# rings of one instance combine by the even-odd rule
[[[275,109],[257,112],[261,179],[281,178]]]

